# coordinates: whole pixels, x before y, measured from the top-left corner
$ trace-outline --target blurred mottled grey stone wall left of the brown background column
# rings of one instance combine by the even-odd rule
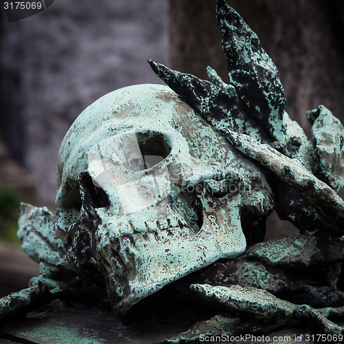
[[[58,0],[21,21],[1,13],[1,65],[13,71],[1,79],[15,98],[2,136],[11,127],[5,141],[34,178],[36,205],[54,209],[58,148],[85,107],[120,87],[160,83],[147,59],[168,63],[167,12],[167,0]]]

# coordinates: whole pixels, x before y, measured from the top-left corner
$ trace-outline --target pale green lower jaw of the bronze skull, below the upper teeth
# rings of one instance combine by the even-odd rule
[[[204,212],[204,222],[197,234],[191,228],[173,227],[110,239],[106,234],[109,230],[103,227],[108,237],[98,244],[97,261],[107,277],[107,294],[114,313],[123,319],[133,305],[169,283],[218,259],[244,252],[240,200],[240,195],[229,202],[226,196],[204,198],[203,202],[211,201],[213,209]]]

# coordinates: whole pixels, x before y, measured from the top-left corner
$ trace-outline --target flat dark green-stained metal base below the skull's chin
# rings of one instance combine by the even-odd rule
[[[26,318],[19,317],[1,330],[3,336],[7,334],[19,343],[27,340],[37,344],[152,344],[188,326],[188,323],[166,325],[158,321],[126,326],[109,311],[54,305],[31,312]]]

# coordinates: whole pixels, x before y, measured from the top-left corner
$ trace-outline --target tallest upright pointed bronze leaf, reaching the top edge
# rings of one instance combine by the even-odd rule
[[[286,97],[277,67],[253,32],[226,0],[217,0],[217,24],[222,33],[229,83],[235,87],[244,111],[284,141]]]

